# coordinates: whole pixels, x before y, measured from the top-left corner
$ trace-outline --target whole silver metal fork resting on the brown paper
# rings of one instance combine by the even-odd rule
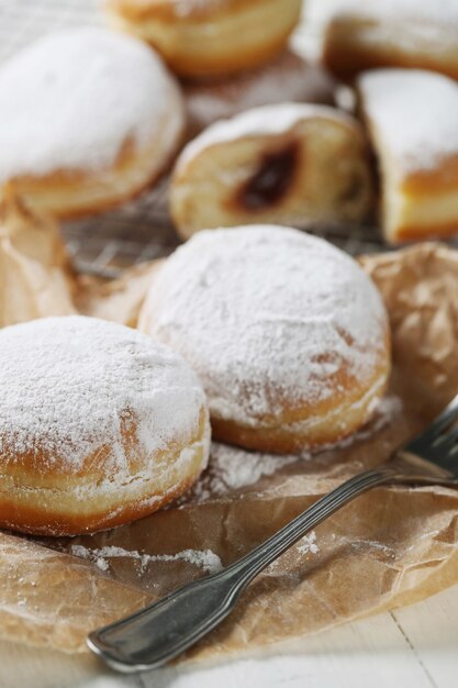
[[[388,463],[322,497],[238,562],[94,631],[88,637],[90,650],[123,673],[166,664],[219,625],[250,580],[308,531],[370,488],[396,484],[458,485],[458,396]]]

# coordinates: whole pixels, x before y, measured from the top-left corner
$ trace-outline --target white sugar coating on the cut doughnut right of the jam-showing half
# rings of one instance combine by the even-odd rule
[[[358,79],[375,135],[403,169],[458,154],[458,85],[422,69],[376,69]]]

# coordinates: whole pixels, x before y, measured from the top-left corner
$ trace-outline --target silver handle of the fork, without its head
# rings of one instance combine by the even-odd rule
[[[308,531],[358,495],[392,481],[396,475],[395,466],[389,464],[347,480],[222,572],[94,631],[88,637],[90,650],[123,673],[166,664],[219,625],[248,582]]]

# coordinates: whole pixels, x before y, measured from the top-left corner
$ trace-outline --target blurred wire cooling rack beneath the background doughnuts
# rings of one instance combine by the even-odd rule
[[[0,64],[49,31],[102,25],[101,1],[0,0]],[[313,55],[316,51],[320,20],[333,1],[309,0],[310,16],[294,36],[295,46],[303,53]],[[113,277],[124,267],[168,255],[179,240],[168,217],[166,198],[167,180],[163,180],[115,211],[64,223],[64,236],[77,269]],[[377,230],[371,228],[312,224],[306,229],[354,255],[384,248]]]

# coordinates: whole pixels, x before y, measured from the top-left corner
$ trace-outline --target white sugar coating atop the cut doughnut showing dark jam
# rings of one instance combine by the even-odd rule
[[[340,122],[351,129],[359,129],[353,116],[328,106],[288,102],[253,108],[228,120],[215,122],[205,129],[183,148],[177,160],[177,169],[188,165],[192,158],[210,146],[248,136],[283,134],[302,120],[311,118],[324,118]]]

